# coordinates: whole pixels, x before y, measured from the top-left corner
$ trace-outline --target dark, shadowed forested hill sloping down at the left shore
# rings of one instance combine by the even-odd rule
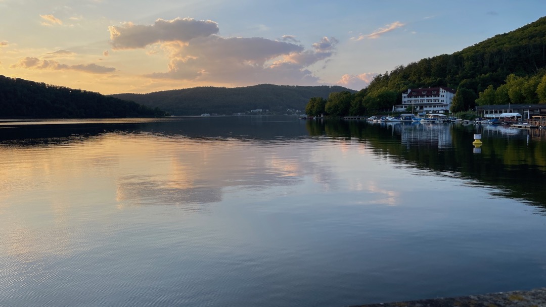
[[[0,75],[0,117],[114,118],[165,116],[159,109],[99,93]]]

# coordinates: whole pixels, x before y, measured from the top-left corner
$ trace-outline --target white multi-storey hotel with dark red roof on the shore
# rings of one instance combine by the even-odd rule
[[[449,87],[428,87],[408,89],[402,93],[402,104],[393,106],[393,112],[405,112],[413,106],[414,112],[443,113],[449,112],[455,91]]]

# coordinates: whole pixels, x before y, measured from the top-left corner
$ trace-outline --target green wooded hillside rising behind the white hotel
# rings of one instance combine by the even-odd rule
[[[401,104],[402,92],[409,88],[439,86],[456,89],[453,112],[472,109],[476,104],[546,103],[546,85],[542,85],[545,74],[546,17],[542,17],[452,55],[400,65],[377,75],[349,103],[339,99],[330,102],[336,100],[333,95],[324,105],[341,103],[343,107],[334,109],[347,112],[331,115],[364,115],[391,110],[393,105]],[[314,105],[316,101],[308,103]],[[323,113],[329,114],[326,109]]]

